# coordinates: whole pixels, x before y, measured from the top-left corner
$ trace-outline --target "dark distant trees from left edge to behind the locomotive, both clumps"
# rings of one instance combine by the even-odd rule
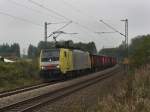
[[[72,40],[70,41],[59,41],[57,43],[51,42],[44,42],[40,41],[37,46],[32,44],[28,47],[27,56],[28,58],[36,58],[39,56],[41,49],[51,49],[51,48],[70,48],[70,49],[80,49],[83,51],[88,51],[90,53],[96,54],[97,49],[94,42],[89,43],[73,43]],[[3,57],[20,57],[20,46],[18,43],[14,43],[12,45],[3,44],[0,45],[0,56]]]

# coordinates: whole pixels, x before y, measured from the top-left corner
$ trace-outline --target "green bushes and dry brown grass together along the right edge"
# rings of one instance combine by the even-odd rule
[[[150,112],[150,35],[132,39],[129,64],[127,77],[112,89],[115,93],[98,100],[97,112]]]

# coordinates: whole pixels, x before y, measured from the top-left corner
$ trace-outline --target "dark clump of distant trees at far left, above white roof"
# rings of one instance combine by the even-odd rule
[[[20,57],[20,46],[18,43],[12,45],[3,44],[0,45],[0,56],[4,57]]]

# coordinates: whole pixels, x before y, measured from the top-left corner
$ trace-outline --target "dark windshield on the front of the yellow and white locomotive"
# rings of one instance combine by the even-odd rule
[[[59,61],[59,52],[60,52],[59,49],[42,50],[41,61],[42,62]]]

